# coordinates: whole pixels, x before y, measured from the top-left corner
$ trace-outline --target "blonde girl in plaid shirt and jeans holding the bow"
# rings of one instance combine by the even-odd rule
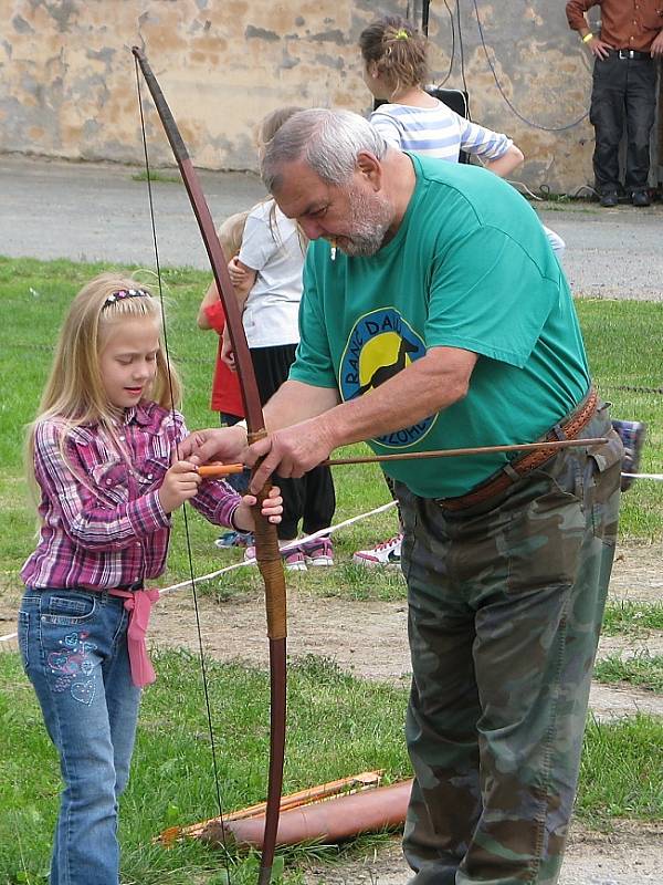
[[[175,371],[160,308],[105,273],[74,299],[28,437],[40,533],[23,565],[23,666],[60,756],[64,789],[51,885],[117,885],[117,800],[140,689],[154,680],[144,635],[165,568],[170,514],[187,500],[211,522],[252,528],[252,497],[179,460]],[[263,513],[280,520],[278,491]]]

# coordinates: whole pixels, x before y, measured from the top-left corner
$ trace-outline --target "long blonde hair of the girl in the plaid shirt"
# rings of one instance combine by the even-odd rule
[[[140,290],[144,294],[108,301],[115,292],[131,289]],[[161,305],[145,285],[117,273],[95,277],[72,301],[60,331],[38,416],[28,427],[25,467],[33,488],[34,431],[36,425],[44,420],[57,420],[62,424],[63,458],[67,431],[85,424],[98,425],[118,455],[128,457],[118,439],[117,409],[108,403],[104,391],[99,353],[107,330],[123,320],[135,317],[149,317],[160,330]],[[164,408],[177,408],[181,400],[181,384],[177,371],[167,364],[161,351],[157,352],[156,363],[155,378],[146,395]]]

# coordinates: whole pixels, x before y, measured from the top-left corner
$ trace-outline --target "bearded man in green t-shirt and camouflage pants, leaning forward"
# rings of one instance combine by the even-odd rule
[[[543,455],[402,460],[412,883],[551,885],[614,552],[619,437],[541,226],[475,167],[389,148],[348,112],[292,117],[262,174],[311,239],[270,435],[196,434],[257,488],[338,446],[379,454],[603,436]]]

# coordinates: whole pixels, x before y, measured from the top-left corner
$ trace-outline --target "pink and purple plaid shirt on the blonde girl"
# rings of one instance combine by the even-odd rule
[[[127,409],[119,438],[133,469],[96,425],[66,433],[38,424],[34,469],[42,497],[40,539],[21,577],[31,587],[109,590],[158,577],[165,568],[170,517],[158,490],[173,444],[187,436],[181,415],[141,403]],[[206,519],[232,525],[240,497],[223,480],[206,480],[191,500]]]

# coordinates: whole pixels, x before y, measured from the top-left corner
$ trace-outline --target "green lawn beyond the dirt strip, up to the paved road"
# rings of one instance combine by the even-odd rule
[[[80,264],[59,260],[0,258],[0,301],[6,322],[0,329],[0,592],[19,589],[18,571],[29,554],[33,539],[33,516],[22,479],[21,440],[24,425],[38,407],[49,372],[52,348],[72,295],[92,275],[108,266]],[[135,269],[129,269],[135,272]],[[150,271],[139,278],[154,283]],[[183,412],[190,427],[213,425],[217,415],[209,409],[209,391],[217,341],[211,332],[196,326],[200,299],[209,274],[187,268],[164,271],[164,290],[169,306],[169,345],[179,360],[185,381]],[[649,441],[643,454],[643,472],[656,472],[663,464],[663,397],[620,391],[622,386],[661,386],[659,341],[662,306],[649,302],[579,300],[580,314],[593,374],[604,396],[614,403],[613,415],[638,418],[649,424]],[[351,447],[354,451],[365,447]],[[375,465],[338,468],[335,471],[338,521],[389,500]],[[197,574],[204,574],[241,558],[236,550],[218,551],[212,541],[217,530],[197,513],[191,514],[191,543]],[[312,571],[294,577],[294,584],[312,593],[344,595],[348,598],[394,600],[404,596],[398,572],[389,576],[366,574],[351,565],[354,550],[392,534],[392,512],[380,514],[344,530],[335,537],[340,568]],[[168,572],[161,585],[188,575],[188,559],[176,514]],[[636,482],[623,498],[621,537],[649,543],[663,539],[663,508],[660,487]],[[322,572],[325,572],[324,574]],[[221,587],[228,592],[253,592],[260,586],[251,570],[234,572]]]

